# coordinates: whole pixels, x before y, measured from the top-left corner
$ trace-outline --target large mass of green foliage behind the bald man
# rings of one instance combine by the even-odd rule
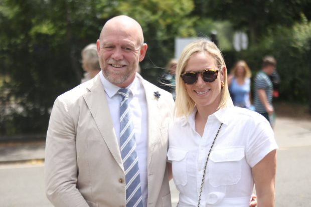
[[[191,0],[0,1],[0,135],[46,132],[55,98],[80,83],[82,48],[117,15],[141,24],[149,46],[142,75],[157,83],[174,38],[194,34],[193,8]]]

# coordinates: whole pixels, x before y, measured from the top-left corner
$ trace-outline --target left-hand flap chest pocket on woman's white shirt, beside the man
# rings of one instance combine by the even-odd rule
[[[176,185],[187,184],[188,150],[169,148],[168,160],[172,161],[173,180]]]

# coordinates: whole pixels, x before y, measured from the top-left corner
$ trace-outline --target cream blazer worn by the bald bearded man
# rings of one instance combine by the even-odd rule
[[[171,206],[168,123],[172,95],[140,75],[148,111],[147,206]],[[160,98],[153,92],[159,91]],[[99,74],[60,95],[46,139],[46,195],[58,207],[125,206],[125,174]]]

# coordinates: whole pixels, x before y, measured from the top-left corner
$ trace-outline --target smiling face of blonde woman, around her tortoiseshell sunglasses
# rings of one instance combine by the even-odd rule
[[[203,69],[219,70],[217,79],[213,82],[205,82],[201,74],[192,85],[185,84],[188,95],[196,103],[197,108],[218,108],[221,97],[221,82],[224,80],[224,68],[217,68],[216,61],[207,53],[199,52],[192,55],[185,67],[185,72],[202,71]]]

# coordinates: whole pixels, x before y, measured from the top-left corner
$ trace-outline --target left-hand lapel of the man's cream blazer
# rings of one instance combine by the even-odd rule
[[[84,100],[91,111],[101,136],[107,144],[111,154],[119,166],[123,169],[119,145],[113,130],[113,123],[109,112],[106,94],[99,74],[93,79],[93,83],[90,84],[87,89],[90,92],[83,95]]]

